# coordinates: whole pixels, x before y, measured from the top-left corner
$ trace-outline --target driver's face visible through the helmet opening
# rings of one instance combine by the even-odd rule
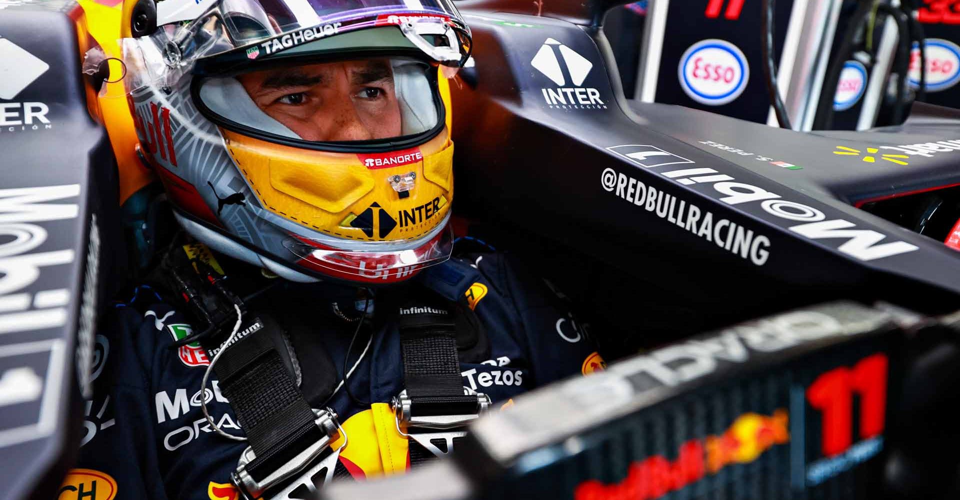
[[[389,60],[348,60],[257,71],[237,77],[253,102],[308,141],[400,135]]]

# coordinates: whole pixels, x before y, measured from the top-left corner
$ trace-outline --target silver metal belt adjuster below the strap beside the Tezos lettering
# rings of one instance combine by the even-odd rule
[[[408,439],[416,440],[430,453],[437,457],[442,457],[453,450],[453,440],[463,438],[467,435],[464,429],[467,425],[487,412],[490,408],[490,396],[485,393],[476,393],[477,410],[476,413],[466,415],[427,415],[414,417],[413,399],[407,395],[406,390],[401,391],[394,397],[391,406],[394,408],[396,420],[396,432]],[[403,432],[402,427],[406,427],[407,432]],[[433,440],[445,440],[445,451],[437,447]]]

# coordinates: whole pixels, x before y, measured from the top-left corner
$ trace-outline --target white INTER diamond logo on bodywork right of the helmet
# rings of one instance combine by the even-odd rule
[[[554,47],[557,49],[555,50]],[[566,67],[565,75],[560,64],[560,58],[557,57],[558,50]],[[540,92],[543,93],[543,100],[549,107],[562,109],[607,108],[607,105],[600,99],[599,90],[581,86],[587,80],[590,70],[593,69],[593,63],[563,43],[553,38],[547,38],[540,46],[537,55],[530,61],[530,64],[553,83],[560,85],[559,87],[540,89]],[[567,86],[567,77],[574,86]]]

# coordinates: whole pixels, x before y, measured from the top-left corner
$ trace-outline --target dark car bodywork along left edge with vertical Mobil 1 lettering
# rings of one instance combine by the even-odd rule
[[[84,433],[97,432],[100,422],[84,428],[82,392],[103,368],[109,347],[97,338],[97,311],[126,260],[116,164],[87,112],[74,21],[64,3],[29,7],[0,11],[5,498],[57,496]],[[14,85],[12,75],[24,78]]]

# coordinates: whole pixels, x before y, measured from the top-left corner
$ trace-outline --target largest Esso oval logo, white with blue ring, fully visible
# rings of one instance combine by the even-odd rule
[[[694,43],[680,58],[680,84],[690,99],[707,105],[730,103],[747,87],[750,65],[727,40],[711,38]]]

